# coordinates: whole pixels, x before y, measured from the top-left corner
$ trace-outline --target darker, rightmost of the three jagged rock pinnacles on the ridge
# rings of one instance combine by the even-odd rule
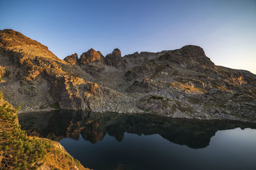
[[[108,66],[117,68],[124,68],[125,64],[121,57],[121,52],[118,48],[115,48],[112,53],[106,55],[105,62]]]

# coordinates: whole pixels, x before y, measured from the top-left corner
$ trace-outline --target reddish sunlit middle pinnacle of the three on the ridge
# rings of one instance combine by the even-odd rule
[[[104,60],[103,55],[99,51],[96,52],[93,48],[91,48],[87,52],[82,53],[79,59],[79,63],[83,65],[83,64],[88,64],[90,62],[103,61],[103,60]]]

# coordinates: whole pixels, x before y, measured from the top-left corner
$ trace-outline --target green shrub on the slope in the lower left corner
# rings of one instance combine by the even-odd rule
[[[50,151],[51,143],[28,137],[20,129],[17,110],[8,103],[0,106],[0,169],[36,169]]]

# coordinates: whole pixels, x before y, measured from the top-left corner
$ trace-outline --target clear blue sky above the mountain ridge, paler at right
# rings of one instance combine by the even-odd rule
[[[199,45],[221,66],[256,73],[256,1],[0,0],[0,29],[14,29],[63,59]]]

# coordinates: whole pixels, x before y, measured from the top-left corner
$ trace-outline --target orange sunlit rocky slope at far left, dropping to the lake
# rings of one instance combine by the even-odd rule
[[[0,31],[0,39],[0,63],[5,72],[1,90],[14,106],[23,103],[21,112],[86,110],[92,105],[88,95],[94,83],[76,76],[76,67],[58,59],[47,46],[13,30]]]

